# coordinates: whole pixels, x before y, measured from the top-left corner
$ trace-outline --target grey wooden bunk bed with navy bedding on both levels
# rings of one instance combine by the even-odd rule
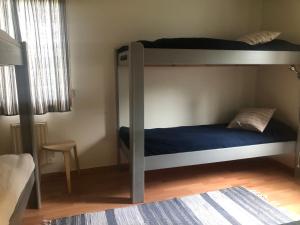
[[[144,173],[147,170],[206,164],[254,157],[265,157],[296,153],[299,155],[299,137],[283,124],[274,126],[286,129],[287,136],[269,137],[267,140],[246,142],[237,145],[206,146],[199,149],[170,150],[176,137],[184,136],[187,129],[181,127],[145,130],[144,128],[144,68],[147,66],[260,66],[300,64],[300,46],[283,40],[251,46],[239,41],[209,38],[175,38],[157,41],[132,42],[116,50],[116,102],[119,133],[118,163],[121,152],[128,158],[131,168],[131,199],[133,203],[144,201]],[[121,68],[129,70],[129,127],[121,127],[120,92]],[[295,67],[292,67],[295,68]],[[275,123],[275,125],[274,125]],[[273,124],[273,125],[272,125]],[[277,125],[276,125],[277,124]],[[217,125],[222,130],[222,126]],[[210,129],[211,127],[201,128]],[[174,131],[174,129],[177,131]],[[181,129],[181,130],[180,130]],[[199,128],[200,129],[200,128]],[[180,131],[178,131],[180,130]],[[268,130],[268,129],[267,129]],[[278,129],[277,129],[278,130]],[[180,133],[183,132],[183,133]],[[190,131],[188,131],[190,134]],[[167,135],[166,135],[167,133]],[[203,133],[203,132],[202,132]],[[284,132],[286,133],[286,132]],[[299,134],[299,132],[298,132]],[[166,136],[164,136],[166,135]],[[247,134],[246,134],[247,135]],[[268,135],[267,135],[268,136]],[[153,138],[154,137],[154,138]],[[161,142],[149,143],[155,138],[170,138],[167,146]],[[212,136],[210,138],[215,138]],[[261,137],[259,137],[261,138]],[[180,140],[179,140],[180,141]],[[183,142],[186,140],[183,140]],[[163,142],[163,141],[162,141]],[[166,141],[167,142],[167,141]],[[223,143],[224,144],[224,143]],[[182,147],[182,146],[181,146]],[[156,148],[156,149],[155,149]],[[157,148],[159,150],[157,150]],[[154,149],[154,150],[153,150]],[[295,169],[298,171],[298,168]]]

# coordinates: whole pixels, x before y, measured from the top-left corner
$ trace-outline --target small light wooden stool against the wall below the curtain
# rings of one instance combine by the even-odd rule
[[[60,143],[53,143],[53,144],[45,144],[42,146],[42,150],[44,151],[52,151],[52,152],[61,152],[64,155],[64,162],[65,162],[65,170],[66,170],[66,177],[67,177],[67,187],[68,192],[72,192],[71,187],[71,151],[74,151],[75,162],[77,167],[77,172],[80,174],[80,167],[79,167],[79,160],[77,155],[77,147],[75,141],[64,141]]]

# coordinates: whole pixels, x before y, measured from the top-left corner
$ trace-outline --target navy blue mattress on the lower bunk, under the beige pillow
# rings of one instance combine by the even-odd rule
[[[271,120],[263,133],[226,128],[227,124],[156,128],[145,130],[145,156],[222,149],[246,145],[295,141],[296,132]],[[129,146],[129,128],[120,128],[120,138]]]

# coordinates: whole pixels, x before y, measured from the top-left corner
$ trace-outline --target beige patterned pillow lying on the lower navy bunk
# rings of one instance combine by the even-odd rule
[[[242,109],[227,128],[240,128],[263,132],[275,112],[274,108]]]

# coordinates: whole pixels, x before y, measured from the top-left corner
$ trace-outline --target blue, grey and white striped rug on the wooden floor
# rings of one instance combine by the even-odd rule
[[[295,219],[295,218],[294,218]],[[51,225],[263,225],[293,219],[243,187],[52,220]]]

